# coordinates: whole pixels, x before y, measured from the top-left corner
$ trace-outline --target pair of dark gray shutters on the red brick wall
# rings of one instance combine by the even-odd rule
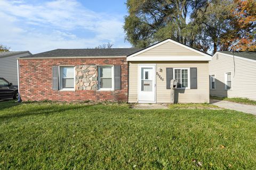
[[[121,65],[114,66],[115,90],[121,90]],[[59,66],[52,66],[52,89],[59,90]]]

